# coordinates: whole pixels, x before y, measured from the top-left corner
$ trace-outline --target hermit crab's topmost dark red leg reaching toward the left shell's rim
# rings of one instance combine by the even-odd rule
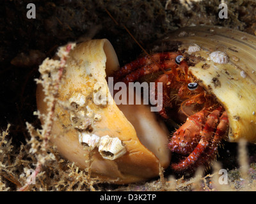
[[[118,71],[116,71],[113,75],[114,81],[118,81],[120,78],[128,75],[132,71],[141,68],[141,66],[147,66],[148,64],[156,64],[158,69],[160,69],[157,63],[175,59],[177,55],[178,54],[176,52],[163,52],[136,59],[135,61],[125,64],[125,66],[118,69]]]

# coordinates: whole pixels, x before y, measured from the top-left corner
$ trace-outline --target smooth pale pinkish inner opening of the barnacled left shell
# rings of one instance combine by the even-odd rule
[[[126,90],[125,90],[126,91]],[[127,90],[129,94],[133,92],[134,105],[118,105],[118,108],[124,113],[125,118],[131,122],[138,139],[150,152],[154,153],[159,159],[161,165],[170,163],[170,150],[168,149],[169,131],[162,120],[157,119],[154,112],[151,112],[148,105],[136,105],[138,96],[134,89]],[[127,93],[128,94],[128,93]],[[128,96],[129,96],[128,94]],[[127,97],[127,104],[129,97]],[[142,99],[141,99],[142,101]]]

